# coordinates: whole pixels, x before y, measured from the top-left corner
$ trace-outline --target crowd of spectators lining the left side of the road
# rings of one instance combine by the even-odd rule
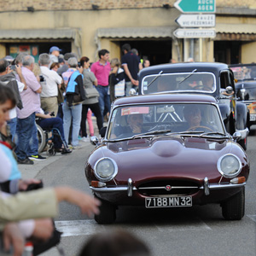
[[[26,53],[15,59],[10,56],[0,59],[0,231],[3,231],[4,247],[8,249],[12,245],[14,255],[21,254],[27,238],[45,241],[52,236],[51,218],[57,214],[58,202],[78,205],[88,215],[99,212],[99,201],[67,187],[20,194],[41,182],[22,179],[18,164],[33,165],[34,160],[46,160],[38,154],[37,123],[45,130],[58,129],[62,140],[69,144],[67,153],[81,148],[79,140],[89,141],[86,121],[90,136],[94,135],[92,113],[98,130],[102,129],[111,102],[127,96],[125,91],[138,84],[137,73],[142,64],[137,54],[131,52],[130,45],[126,44],[124,49],[122,63],[118,58],[109,62],[109,51],[101,49],[99,61],[91,67],[88,57],[79,59],[74,53],[61,55],[57,46],[51,47],[49,54],[39,55],[38,63]],[[125,81],[130,82],[129,86]],[[63,153],[61,141],[55,145],[56,151]],[[127,249],[131,249],[131,242],[137,242],[139,250],[149,255],[141,241],[129,234],[121,235],[118,235],[120,241],[127,243]],[[93,255],[100,255],[92,243],[96,239],[99,238],[93,238],[84,247],[84,252],[90,247],[95,250]],[[85,254],[81,252],[81,255]]]

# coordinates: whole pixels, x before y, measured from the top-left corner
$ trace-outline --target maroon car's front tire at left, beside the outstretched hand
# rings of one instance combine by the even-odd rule
[[[97,198],[97,197],[96,197]],[[100,208],[100,213],[94,216],[97,224],[112,224],[116,219],[116,208],[108,201],[103,201],[97,198],[102,202]]]

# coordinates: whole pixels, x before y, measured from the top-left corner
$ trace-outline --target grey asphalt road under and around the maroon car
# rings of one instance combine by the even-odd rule
[[[125,229],[148,244],[152,255],[256,255],[256,127],[248,139],[247,155],[251,173],[246,186],[246,212],[241,221],[225,221],[218,205],[189,208],[150,209],[121,207],[117,221],[111,225],[96,224],[94,219],[82,216],[77,207],[61,203],[60,215],[55,219],[62,230],[61,247],[67,256],[78,255],[80,247],[93,234],[102,230]],[[93,146],[70,155],[52,156],[34,166],[20,166],[24,177],[38,177],[44,185],[68,184],[90,193],[84,177],[84,163]],[[56,248],[43,253],[57,256]]]

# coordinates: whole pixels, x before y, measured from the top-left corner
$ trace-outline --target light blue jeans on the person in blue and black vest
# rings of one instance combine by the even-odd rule
[[[71,119],[73,119],[72,125],[72,145],[77,146],[79,144],[79,131],[82,118],[82,104],[67,106],[67,102],[62,105],[63,110],[63,128],[64,137],[66,143],[68,143],[69,129],[71,125]]]

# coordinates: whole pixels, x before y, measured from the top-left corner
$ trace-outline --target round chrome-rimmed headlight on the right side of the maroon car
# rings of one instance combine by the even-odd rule
[[[241,160],[234,154],[225,154],[218,160],[218,172],[224,177],[236,177],[241,172]]]

